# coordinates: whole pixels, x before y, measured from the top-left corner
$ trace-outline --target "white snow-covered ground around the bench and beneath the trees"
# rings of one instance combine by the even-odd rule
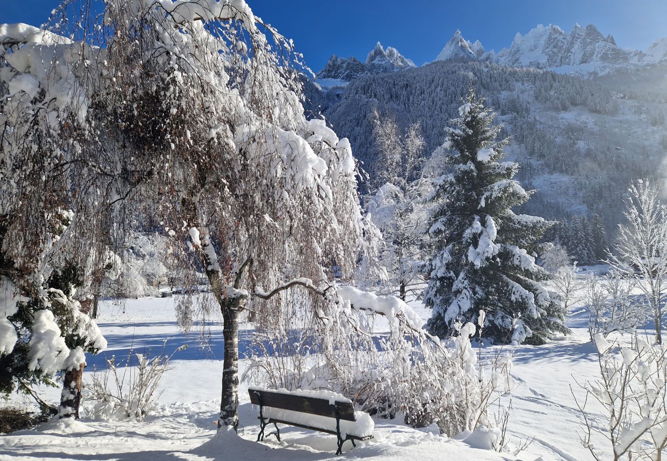
[[[199,347],[195,332],[179,332],[174,305],[177,298],[144,298],[124,302],[104,302],[99,326],[109,347],[89,358],[85,378],[93,366],[104,368],[111,355],[122,358],[133,348],[143,352],[153,347],[166,351],[182,344],[175,365],[163,378],[159,405],[145,422],[95,421],[83,414],[81,421],[51,421],[34,430],[0,437],[0,459],[11,460],[319,460],[336,458],[336,438],[298,428],[281,428],[282,442],[270,437],[257,443],[259,431],[256,409],[249,403],[247,383],[241,384],[239,409],[241,438],[226,431],[217,435],[215,425],[221,390],[222,334],[219,326],[211,331],[211,348]],[[422,316],[426,310],[418,309]],[[508,432],[512,445],[532,439],[518,455],[497,454],[473,448],[427,429],[416,430],[402,419],[375,420],[375,438],[346,442],[341,458],[369,460],[586,460],[590,454],[579,442],[580,417],[572,390],[582,392],[576,381],[594,379],[598,374],[596,353],[588,340],[582,306],[575,306],[568,320],[572,335],[545,346],[509,347],[514,353],[512,374],[520,386],[513,392]],[[248,347],[250,332],[240,333],[240,348]],[[506,346],[508,348],[508,346]],[[492,354],[495,348],[485,348]],[[243,368],[243,364],[242,364]],[[241,370],[242,371],[242,370]],[[59,389],[42,390],[47,400],[59,398]],[[88,404],[85,404],[86,408]],[[90,406],[87,406],[90,408]],[[437,432],[437,431],[436,431]],[[596,440],[602,448],[604,440]]]

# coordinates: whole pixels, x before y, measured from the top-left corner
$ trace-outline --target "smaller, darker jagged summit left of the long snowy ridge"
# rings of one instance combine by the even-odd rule
[[[317,73],[317,79],[334,79],[349,82],[363,74],[378,74],[397,72],[416,67],[410,59],[404,57],[394,47],[384,49],[378,42],[376,47],[368,53],[366,62],[362,63],[356,57],[342,58],[333,55],[324,68]]]

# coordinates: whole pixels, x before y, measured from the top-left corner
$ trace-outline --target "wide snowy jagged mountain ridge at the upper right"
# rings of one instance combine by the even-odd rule
[[[567,33],[556,25],[538,25],[526,35],[518,33],[509,48],[496,54],[494,51],[485,52],[479,41],[471,43],[457,30],[436,57],[436,61],[448,59],[480,59],[500,65],[538,69],[582,67],[593,70],[650,64],[667,59],[667,39],[657,41],[643,52],[618,47],[614,37],[602,35],[592,24],[586,27],[576,24]]]

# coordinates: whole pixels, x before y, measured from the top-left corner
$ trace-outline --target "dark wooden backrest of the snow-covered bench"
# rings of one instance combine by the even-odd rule
[[[316,414],[317,416],[326,416],[327,418],[336,418],[336,410],[338,410],[338,417],[340,419],[356,421],[354,406],[350,402],[334,402],[336,404],[334,407],[333,405],[329,405],[329,400],[326,398],[309,397],[299,394],[282,394],[281,392],[253,388],[248,389],[248,394],[250,394],[250,402],[253,405],[259,405],[261,399],[263,406]]]

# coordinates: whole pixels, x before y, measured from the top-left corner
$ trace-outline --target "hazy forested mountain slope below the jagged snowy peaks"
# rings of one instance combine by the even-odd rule
[[[306,97],[309,110],[350,138],[372,185],[374,108],[403,126],[420,123],[430,153],[443,142],[446,123],[472,85],[488,97],[513,138],[507,150],[522,165],[518,178],[537,189],[527,211],[549,218],[600,213],[612,228],[630,181],[664,176],[666,74],[665,64],[584,78],[452,59],[362,75],[327,91],[307,83]]]

